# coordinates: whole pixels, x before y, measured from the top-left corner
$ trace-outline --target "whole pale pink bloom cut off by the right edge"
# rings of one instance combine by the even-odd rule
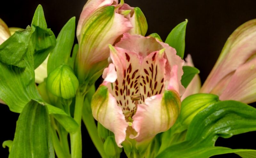
[[[200,92],[220,100],[256,101],[256,19],[238,27],[228,38]]]

